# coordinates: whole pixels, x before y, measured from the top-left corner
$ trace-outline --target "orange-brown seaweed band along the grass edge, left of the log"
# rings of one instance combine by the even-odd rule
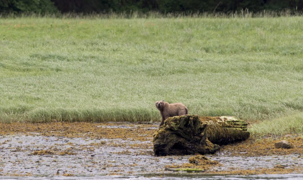
[[[122,139],[122,140],[139,140],[147,141],[152,139],[155,129],[149,129],[153,125],[140,124],[125,125],[131,128],[107,128],[106,126],[114,126],[116,124],[105,123],[0,123],[0,135],[8,135],[15,133],[24,133],[28,135],[56,136],[68,138],[91,138],[91,139]],[[119,133],[117,133],[119,132]],[[39,133],[39,134],[36,134]]]

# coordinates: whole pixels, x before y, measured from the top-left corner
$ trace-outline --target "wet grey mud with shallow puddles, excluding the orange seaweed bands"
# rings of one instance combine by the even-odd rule
[[[117,125],[110,126],[110,128],[128,127]],[[138,136],[144,136],[144,134]],[[153,156],[152,138],[147,139],[150,140],[47,137],[38,133],[0,136],[0,178],[47,180],[303,179],[303,174],[224,176],[186,172],[172,173],[165,171],[164,167],[173,163],[187,163],[191,156]],[[32,155],[36,150],[50,150],[55,153],[53,155]],[[71,152],[72,155],[60,156],[59,153],[62,151]],[[229,171],[231,168],[245,170],[273,168],[278,164],[285,166],[285,169],[303,166],[303,159],[296,154],[242,157],[218,152],[215,155],[206,156],[221,164],[221,166],[212,167],[210,169],[212,172]]]

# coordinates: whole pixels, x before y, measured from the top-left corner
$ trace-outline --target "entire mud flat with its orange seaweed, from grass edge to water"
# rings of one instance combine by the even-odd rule
[[[198,166],[188,161],[195,155],[154,156],[152,137],[158,124],[13,123],[0,127],[0,178],[220,179],[231,175],[231,179],[241,179],[241,175],[265,174],[303,178],[303,138],[299,136],[287,139],[293,149],[275,149],[274,143],[284,137],[251,137],[206,155],[218,162],[215,165]],[[205,172],[165,168],[203,168]]]

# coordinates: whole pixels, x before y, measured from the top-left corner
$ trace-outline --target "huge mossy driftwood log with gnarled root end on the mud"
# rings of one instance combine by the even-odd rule
[[[246,140],[247,123],[233,116],[169,117],[154,134],[156,156],[215,153],[219,145]]]

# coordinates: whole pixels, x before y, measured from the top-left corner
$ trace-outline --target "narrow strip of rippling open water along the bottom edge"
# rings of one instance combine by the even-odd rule
[[[76,177],[64,177],[64,176],[55,176],[55,177],[1,177],[5,180],[80,180],[80,179],[88,179],[88,180],[99,180],[99,179],[119,179],[119,180],[177,180],[177,179],[188,179],[188,180],[247,180],[247,179],[287,179],[287,180],[302,180],[303,174],[264,174],[264,175],[200,175],[200,174],[149,174],[142,176],[117,176],[117,175],[109,175],[109,176],[76,176]]]

